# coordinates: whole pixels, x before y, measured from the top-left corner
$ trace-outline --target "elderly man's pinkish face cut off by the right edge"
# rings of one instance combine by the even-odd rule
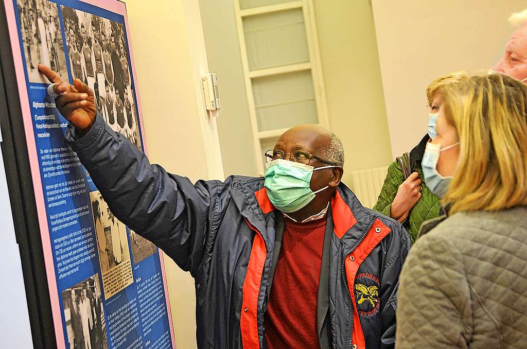
[[[492,70],[518,80],[527,78],[527,24],[512,34],[505,46],[505,54]]]

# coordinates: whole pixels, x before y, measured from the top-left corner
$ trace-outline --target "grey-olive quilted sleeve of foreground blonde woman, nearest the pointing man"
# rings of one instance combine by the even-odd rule
[[[470,290],[463,258],[433,231],[406,259],[399,287],[396,348],[466,348]]]

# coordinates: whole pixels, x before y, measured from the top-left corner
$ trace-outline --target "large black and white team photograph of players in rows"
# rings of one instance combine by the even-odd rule
[[[94,91],[97,109],[110,127],[142,149],[122,24],[61,8],[73,79]]]

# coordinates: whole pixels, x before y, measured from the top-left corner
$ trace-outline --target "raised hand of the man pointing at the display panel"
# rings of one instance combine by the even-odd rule
[[[46,75],[48,80],[56,83],[53,90],[60,95],[55,99],[55,104],[62,116],[81,135],[89,131],[97,114],[93,91],[79,79],[75,79],[73,85],[63,81],[56,72],[43,64],[38,64],[38,71]]]

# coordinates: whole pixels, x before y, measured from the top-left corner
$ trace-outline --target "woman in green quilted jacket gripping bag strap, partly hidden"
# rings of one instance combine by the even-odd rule
[[[374,210],[391,217],[404,225],[414,243],[421,224],[427,219],[436,218],[442,213],[441,202],[433,193],[433,187],[426,183],[421,168],[421,160],[426,144],[436,135],[437,113],[441,103],[442,86],[466,79],[465,72],[455,72],[438,77],[426,88],[428,99],[428,133],[409,152],[411,175],[405,180],[401,165],[394,161],[380,190]],[[404,159],[404,156],[403,156]],[[406,163],[406,160],[403,160]]]

